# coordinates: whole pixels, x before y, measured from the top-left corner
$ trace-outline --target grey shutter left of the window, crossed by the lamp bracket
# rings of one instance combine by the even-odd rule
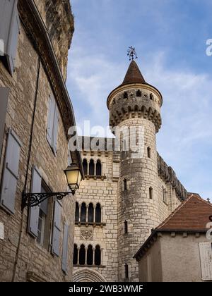
[[[31,192],[32,193],[39,193],[41,191],[41,174],[40,171],[33,167],[32,173],[32,185],[31,185]],[[40,205],[30,207],[29,211],[29,221],[28,221],[28,233],[37,238],[37,228],[38,228],[38,218],[39,218],[39,211]]]

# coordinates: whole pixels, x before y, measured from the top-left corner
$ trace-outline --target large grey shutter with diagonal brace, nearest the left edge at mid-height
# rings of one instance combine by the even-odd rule
[[[16,186],[21,143],[16,134],[8,130],[6,159],[1,184],[1,205],[12,214],[15,213]]]

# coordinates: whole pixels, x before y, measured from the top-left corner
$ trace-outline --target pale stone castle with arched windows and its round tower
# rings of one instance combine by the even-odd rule
[[[131,61],[107,98],[115,139],[81,139],[86,178],[76,196],[75,281],[139,280],[134,254],[187,196],[157,152],[162,104]]]

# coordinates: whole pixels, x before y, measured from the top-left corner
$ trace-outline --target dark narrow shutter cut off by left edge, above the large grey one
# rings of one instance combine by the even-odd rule
[[[8,94],[8,87],[0,87],[0,155],[4,140],[4,127],[6,120],[6,109],[8,104]]]

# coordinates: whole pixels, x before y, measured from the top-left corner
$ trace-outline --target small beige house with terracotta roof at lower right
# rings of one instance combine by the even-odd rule
[[[189,194],[136,252],[139,280],[211,282],[211,214],[210,202]]]

